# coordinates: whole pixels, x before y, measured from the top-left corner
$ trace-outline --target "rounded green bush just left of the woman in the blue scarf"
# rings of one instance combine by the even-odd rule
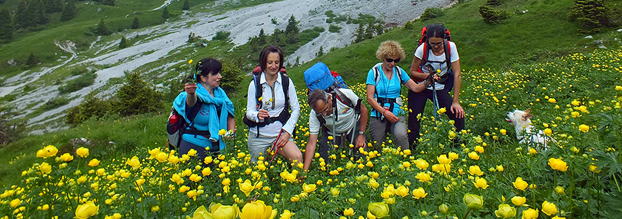
[[[121,116],[131,116],[164,109],[162,94],[145,82],[140,71],[125,72],[125,83],[117,90],[113,111]]]

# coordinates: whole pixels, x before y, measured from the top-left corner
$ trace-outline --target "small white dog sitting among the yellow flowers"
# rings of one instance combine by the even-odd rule
[[[547,143],[552,139],[549,139],[542,130],[536,133],[532,132],[530,118],[534,115],[529,114],[530,111],[531,109],[525,111],[514,110],[514,112],[507,113],[505,121],[513,125],[516,129],[516,138],[520,140],[519,143],[527,145],[534,144],[536,146],[543,145],[545,150],[549,149]]]

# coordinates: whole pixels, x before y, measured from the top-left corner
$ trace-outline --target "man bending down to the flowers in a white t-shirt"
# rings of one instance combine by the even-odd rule
[[[366,147],[367,107],[361,103],[361,98],[352,90],[346,88],[337,88],[337,90],[341,92],[341,98],[350,100],[347,102],[350,105],[344,103],[345,101],[339,98],[339,94],[328,94],[321,89],[313,90],[309,94],[308,103],[311,107],[309,114],[310,136],[307,147],[305,147],[304,169],[309,169],[311,165],[320,131],[322,136],[319,141],[319,154],[326,162],[328,162],[328,149],[332,145],[345,146],[346,139],[354,146],[355,154],[359,153],[359,148]],[[337,104],[334,105],[334,102]],[[355,109],[356,107],[359,107],[359,112]],[[337,117],[337,121],[335,121],[335,117]],[[328,136],[333,136],[330,145]]]

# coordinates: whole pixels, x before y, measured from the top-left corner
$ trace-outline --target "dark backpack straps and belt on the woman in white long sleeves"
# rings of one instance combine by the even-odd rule
[[[261,87],[261,79],[260,79],[261,72],[262,72],[261,67],[259,67],[259,65],[257,65],[252,72],[252,76],[253,76],[252,81],[255,83],[255,101],[257,103],[255,107],[257,109],[260,109],[261,107],[263,107],[263,102],[259,101],[259,98],[263,96],[263,89],[259,88]],[[281,85],[283,87],[283,94],[285,94],[285,106],[283,107],[283,111],[281,111],[279,116],[264,118],[263,122],[260,122],[260,123],[256,123],[250,120],[246,115],[244,115],[244,118],[242,118],[242,121],[244,122],[244,124],[246,124],[249,128],[257,127],[257,136],[259,136],[259,127],[264,127],[275,121],[280,121],[281,124],[285,125],[285,123],[290,118],[290,115],[291,115],[290,114],[290,95],[289,95],[290,77],[288,76],[288,73],[285,70],[285,67],[281,68],[279,72],[281,73]],[[248,97],[248,94],[244,95],[244,97]],[[292,137],[295,137],[295,134],[293,134]]]

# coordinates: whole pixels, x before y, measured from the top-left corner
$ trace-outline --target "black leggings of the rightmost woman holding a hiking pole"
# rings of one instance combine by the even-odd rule
[[[453,98],[449,96],[449,91],[437,90],[436,96],[438,98],[438,107],[445,107],[445,114],[449,117],[450,120],[453,120],[455,123],[455,130],[457,132],[462,131],[464,129],[464,118],[455,118],[455,114],[451,112],[451,103],[453,103]],[[432,101],[432,90],[424,90],[419,93],[415,93],[411,90],[408,90],[408,109],[413,110],[413,112],[408,112],[408,129],[411,130],[411,133],[408,133],[408,142],[417,143],[419,140],[419,132],[421,129],[420,121],[417,119],[417,114],[422,114],[426,107],[426,102]]]

